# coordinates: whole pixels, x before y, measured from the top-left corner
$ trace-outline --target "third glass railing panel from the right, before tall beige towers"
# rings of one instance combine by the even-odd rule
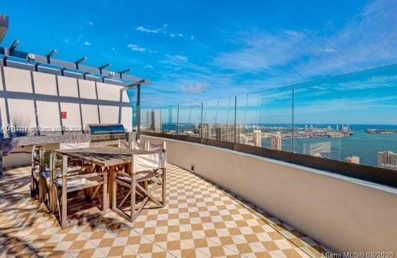
[[[235,141],[235,97],[203,102],[203,138]],[[238,133],[237,133],[238,135]]]

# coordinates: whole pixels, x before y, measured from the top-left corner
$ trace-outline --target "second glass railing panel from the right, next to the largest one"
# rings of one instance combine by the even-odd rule
[[[291,87],[237,96],[240,143],[291,151]]]

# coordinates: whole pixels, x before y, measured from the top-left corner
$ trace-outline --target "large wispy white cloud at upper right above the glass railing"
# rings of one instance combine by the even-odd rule
[[[397,59],[396,13],[395,1],[378,0],[332,33],[240,33],[235,37],[237,48],[220,53],[213,63],[235,74],[264,72],[268,76],[262,74],[262,84],[269,79],[278,84],[301,82],[391,64]]]

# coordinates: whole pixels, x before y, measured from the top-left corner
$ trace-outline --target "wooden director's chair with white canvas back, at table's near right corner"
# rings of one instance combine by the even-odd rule
[[[150,162],[147,162],[148,160]],[[149,201],[157,205],[152,208],[164,207],[166,202],[165,164],[165,142],[162,142],[162,150],[158,152],[143,154],[142,156],[133,155],[133,162],[130,164],[131,174],[121,171],[113,173],[112,210],[123,218],[130,220],[130,222],[134,222]],[[160,169],[162,172],[159,172]],[[148,185],[148,181],[152,181],[152,184]],[[128,193],[122,196],[119,203],[117,203],[118,185],[128,189]],[[160,200],[153,195],[157,189],[162,189]],[[137,195],[142,197],[139,207],[136,205]],[[128,200],[128,197],[130,197],[129,214],[123,211],[123,204]]]

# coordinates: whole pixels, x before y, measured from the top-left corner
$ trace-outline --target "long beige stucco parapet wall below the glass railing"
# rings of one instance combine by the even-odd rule
[[[159,140],[142,136],[142,140]],[[336,251],[397,254],[397,190],[177,140],[167,161],[224,186]]]

